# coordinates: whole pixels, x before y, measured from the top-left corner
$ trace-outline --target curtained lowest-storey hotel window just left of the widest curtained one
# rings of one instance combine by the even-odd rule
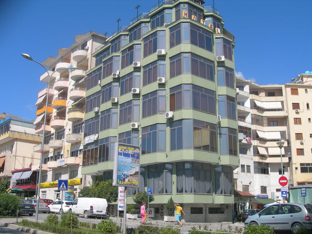
[[[172,163],[148,166],[147,186],[153,194],[172,193]]]

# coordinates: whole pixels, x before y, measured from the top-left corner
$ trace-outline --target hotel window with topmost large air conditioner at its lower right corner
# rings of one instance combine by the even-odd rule
[[[144,56],[149,56],[155,53],[157,50],[166,48],[166,34],[165,31],[157,31],[153,34],[145,37],[144,40]]]

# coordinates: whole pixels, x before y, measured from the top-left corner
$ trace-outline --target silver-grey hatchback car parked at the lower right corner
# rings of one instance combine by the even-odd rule
[[[291,229],[305,226],[312,229],[312,205],[299,203],[281,203],[266,207],[259,213],[248,217],[245,227],[248,224],[267,224],[274,228]]]

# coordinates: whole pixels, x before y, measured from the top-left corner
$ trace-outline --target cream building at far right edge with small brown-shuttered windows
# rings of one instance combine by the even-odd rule
[[[312,75],[285,84],[294,186],[312,184]],[[299,83],[300,82],[300,83]]]

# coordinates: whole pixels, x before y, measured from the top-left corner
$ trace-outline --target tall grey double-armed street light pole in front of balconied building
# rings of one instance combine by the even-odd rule
[[[38,188],[37,188],[37,203],[36,203],[36,222],[38,222],[38,211],[39,211],[39,197],[40,197],[40,183],[41,183],[41,168],[42,168],[42,155],[43,155],[43,147],[44,147],[44,137],[45,137],[45,133],[46,133],[46,112],[47,112],[47,108],[48,108],[48,97],[49,97],[49,88],[50,88],[50,80],[51,80],[51,76],[56,72],[56,71],[60,71],[60,70],[64,70],[64,69],[68,69],[71,70],[73,68],[73,66],[69,66],[67,68],[60,68],[60,69],[56,69],[55,71],[52,72],[52,74],[50,75],[48,70],[46,69],[45,66],[43,66],[40,62],[32,59],[32,57],[29,54],[22,54],[22,56],[30,61],[34,61],[38,64],[40,64],[45,70],[46,73],[49,77],[48,80],[48,87],[47,87],[47,97],[46,97],[46,109],[44,112],[44,120],[43,120],[43,132],[42,132],[42,143],[41,143],[41,156],[40,156],[40,164],[39,164],[39,175],[38,175]]]

